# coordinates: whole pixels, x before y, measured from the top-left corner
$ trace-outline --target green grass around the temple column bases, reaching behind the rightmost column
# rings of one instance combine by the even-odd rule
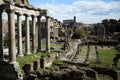
[[[23,47],[25,47],[25,45],[23,45]],[[34,60],[39,59],[40,57],[47,57],[47,56],[51,55],[54,50],[60,50],[62,47],[62,44],[50,43],[50,47],[54,48],[54,50],[51,50],[50,53],[45,51],[46,50],[45,49],[46,48],[45,40],[42,41],[41,47],[44,50],[44,52],[38,52],[38,53],[31,54],[31,55],[26,55],[22,58],[17,58],[17,62],[20,64],[20,66],[23,67],[25,63],[32,62]]]

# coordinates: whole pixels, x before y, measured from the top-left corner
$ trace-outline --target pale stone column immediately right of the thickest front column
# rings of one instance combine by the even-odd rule
[[[17,13],[17,27],[18,27],[18,57],[22,57],[22,23],[21,23],[22,15]]]

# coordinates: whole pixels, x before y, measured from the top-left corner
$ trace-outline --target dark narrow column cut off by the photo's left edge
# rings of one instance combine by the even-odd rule
[[[0,60],[4,59],[3,56],[3,36],[2,36],[2,11],[0,11]]]

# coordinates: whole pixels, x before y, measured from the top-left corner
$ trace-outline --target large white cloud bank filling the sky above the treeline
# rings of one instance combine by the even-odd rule
[[[77,0],[68,4],[41,4],[49,15],[58,20],[70,19],[77,16],[77,21],[85,23],[99,22],[102,19],[120,18],[120,1],[104,2],[102,0]]]

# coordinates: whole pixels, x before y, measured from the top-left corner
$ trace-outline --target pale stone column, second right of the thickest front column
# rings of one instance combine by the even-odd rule
[[[31,53],[30,53],[30,26],[28,15],[25,15],[25,22],[26,22],[26,54],[29,55]]]

